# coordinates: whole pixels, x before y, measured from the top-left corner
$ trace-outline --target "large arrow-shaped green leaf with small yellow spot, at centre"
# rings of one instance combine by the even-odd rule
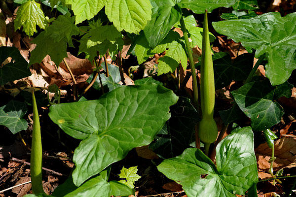
[[[122,86],[98,100],[56,104],[49,117],[63,131],[83,139],[75,149],[75,185],[148,145],[169,119],[178,97],[157,84]],[[157,111],[157,114],[155,114]]]

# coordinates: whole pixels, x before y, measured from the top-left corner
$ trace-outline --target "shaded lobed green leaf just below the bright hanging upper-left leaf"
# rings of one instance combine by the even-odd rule
[[[37,44],[36,48],[31,52],[30,65],[40,63],[46,55],[50,56],[56,66],[67,57],[67,38],[64,37],[59,42],[54,41],[46,32],[41,32],[33,40]]]

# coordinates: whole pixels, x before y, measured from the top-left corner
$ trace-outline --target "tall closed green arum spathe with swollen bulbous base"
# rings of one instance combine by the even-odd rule
[[[208,155],[210,144],[217,138],[218,129],[214,120],[215,81],[207,10],[204,16],[202,39],[200,96],[202,119],[199,122],[199,137],[205,143],[205,154]]]

